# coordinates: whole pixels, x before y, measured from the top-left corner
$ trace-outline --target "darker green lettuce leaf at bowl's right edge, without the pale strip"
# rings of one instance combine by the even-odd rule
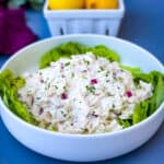
[[[134,107],[132,124],[138,124],[148,118],[164,102],[164,74],[157,71],[152,71],[148,74],[141,73],[134,77],[136,82],[139,82],[140,80],[152,83],[153,96],[144,102],[139,103]]]

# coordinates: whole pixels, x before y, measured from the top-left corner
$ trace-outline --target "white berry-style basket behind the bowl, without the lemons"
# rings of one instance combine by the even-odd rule
[[[52,36],[75,33],[96,33],[116,36],[125,14],[124,0],[116,10],[48,10],[44,15]]]

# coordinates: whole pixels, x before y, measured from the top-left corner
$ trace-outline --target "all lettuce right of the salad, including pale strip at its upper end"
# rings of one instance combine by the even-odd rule
[[[120,65],[120,67],[131,72],[137,85],[140,80],[153,85],[153,96],[137,104],[131,118],[119,120],[120,125],[125,128],[144,120],[164,102],[164,74],[159,71],[143,73],[140,68],[131,68],[124,65]]]

